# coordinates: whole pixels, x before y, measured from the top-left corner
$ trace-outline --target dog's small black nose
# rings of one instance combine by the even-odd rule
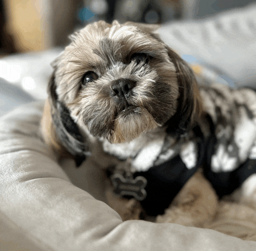
[[[125,99],[131,95],[132,89],[136,83],[131,79],[117,79],[112,82],[110,96],[118,96],[120,99]]]

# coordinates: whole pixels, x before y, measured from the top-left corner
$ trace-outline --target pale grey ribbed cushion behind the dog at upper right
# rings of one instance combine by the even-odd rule
[[[234,86],[255,86],[256,5],[224,11],[212,17],[171,22],[161,38],[192,64],[210,65],[232,79]]]

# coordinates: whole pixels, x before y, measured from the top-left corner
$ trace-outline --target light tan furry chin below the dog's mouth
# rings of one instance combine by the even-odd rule
[[[146,109],[131,107],[116,117],[114,129],[109,131],[106,138],[111,143],[129,142],[159,126]]]

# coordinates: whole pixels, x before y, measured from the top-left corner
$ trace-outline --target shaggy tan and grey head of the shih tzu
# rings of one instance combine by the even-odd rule
[[[60,114],[53,123],[66,123],[68,117],[65,130],[78,126],[82,134],[111,143],[131,141],[156,127],[177,134],[191,127],[199,108],[194,75],[156,29],[101,21],[72,35],[52,64],[49,103],[52,114]]]

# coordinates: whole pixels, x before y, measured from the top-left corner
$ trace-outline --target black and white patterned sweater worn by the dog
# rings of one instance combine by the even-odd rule
[[[187,139],[174,143],[159,130],[127,144],[102,142],[106,153],[131,158],[134,178],[147,179],[141,204],[151,215],[162,214],[199,167],[220,197],[256,173],[256,92],[224,85],[199,90],[205,116]]]

